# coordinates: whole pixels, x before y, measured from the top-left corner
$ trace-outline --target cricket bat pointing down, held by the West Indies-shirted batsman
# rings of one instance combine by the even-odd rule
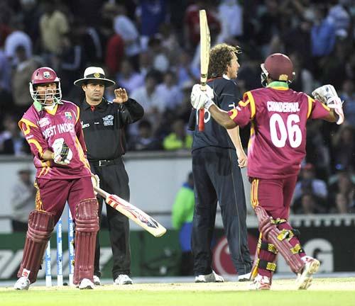
[[[133,222],[136,222],[136,224],[143,227],[143,229],[146,229],[146,231],[150,232],[154,237],[160,237],[165,234],[165,227],[160,225],[160,223],[154,220],[153,217],[147,215],[146,212],[143,212],[143,210],[140,210],[119,196],[107,193],[99,187],[94,187],[94,191],[104,197],[106,203],[109,204],[111,208],[118,210]]]

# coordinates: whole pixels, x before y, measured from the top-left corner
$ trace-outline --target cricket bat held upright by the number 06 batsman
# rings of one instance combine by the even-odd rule
[[[206,90],[208,64],[209,64],[209,48],[211,45],[211,37],[209,36],[209,28],[207,23],[206,11],[200,10],[200,62],[201,62],[201,89]],[[204,130],[204,108],[199,111],[199,131]]]

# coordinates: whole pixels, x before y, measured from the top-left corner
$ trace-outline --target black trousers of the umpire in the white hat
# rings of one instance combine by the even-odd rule
[[[90,162],[92,173],[97,174],[100,179],[100,188],[108,193],[113,193],[129,201],[129,176],[127,175],[124,163],[121,158],[111,161],[106,166],[99,166],[98,162]],[[99,218],[101,222],[102,205],[104,199],[99,200]],[[129,246],[129,219],[111,206],[106,204],[107,222],[109,225],[109,238],[111,242],[114,266],[112,277],[114,280],[119,274],[131,273],[131,249]],[[101,276],[99,268],[100,241],[97,233],[97,244],[94,261],[94,275]]]

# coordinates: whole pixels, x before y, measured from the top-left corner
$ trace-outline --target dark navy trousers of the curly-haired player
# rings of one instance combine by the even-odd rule
[[[239,275],[251,271],[246,230],[243,179],[234,149],[205,147],[192,152],[195,211],[192,221],[192,253],[195,276],[212,272],[211,242],[217,201],[231,260]]]

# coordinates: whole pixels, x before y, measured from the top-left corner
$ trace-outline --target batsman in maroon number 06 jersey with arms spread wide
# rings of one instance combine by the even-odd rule
[[[251,204],[258,218],[260,238],[251,273],[251,290],[271,288],[276,256],[280,253],[297,274],[296,287],[307,289],[320,261],[305,254],[299,232],[288,222],[290,201],[300,163],[305,158],[306,123],[322,118],[338,125],[344,122],[342,101],[332,85],[315,89],[315,99],[288,88],[295,76],[293,63],[275,53],[261,64],[264,88],[247,91],[239,105],[223,111],[196,84],[191,103],[205,108],[225,128],[244,127],[251,122],[248,147],[248,176]]]

